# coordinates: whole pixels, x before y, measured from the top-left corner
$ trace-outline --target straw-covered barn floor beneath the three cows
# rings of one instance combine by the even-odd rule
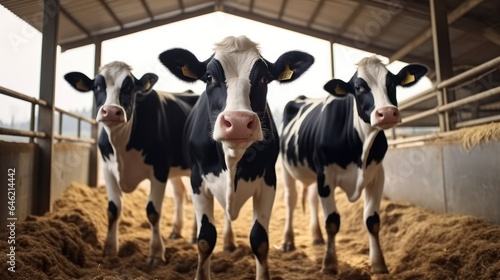
[[[269,266],[274,280],[292,279],[500,279],[500,226],[458,215],[435,214],[408,204],[382,202],[381,243],[389,275],[372,275],[368,265],[368,238],[361,219],[362,200],[350,204],[338,193],[341,228],[337,235],[339,274],[319,272],[322,246],[312,246],[309,216],[299,208],[295,215],[297,250],[277,249],[284,224],[283,185],[278,182],[270,225]],[[103,259],[101,250],[107,228],[106,192],[103,187],[73,184],[54,210],[29,217],[16,226],[16,272],[7,271],[2,253],[1,279],[193,279],[196,248],[191,234],[192,205],[187,203],[183,235],[165,240],[167,263],[147,269],[149,224],[145,216],[147,191],[139,189],[124,197],[117,257]],[[172,200],[163,208],[163,236],[171,230]],[[218,205],[218,204],[216,204]],[[299,203],[300,205],[300,203]],[[300,207],[300,206],[298,206]],[[307,207],[306,207],[307,208]],[[254,279],[255,264],[248,241],[251,203],[234,223],[238,248],[222,251],[223,214],[216,207],[219,239],[212,258],[213,279]],[[307,210],[306,210],[307,211]],[[0,248],[8,248],[2,228]],[[5,252],[2,249],[2,252]]]

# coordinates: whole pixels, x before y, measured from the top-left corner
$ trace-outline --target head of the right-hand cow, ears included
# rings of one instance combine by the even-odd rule
[[[427,71],[423,65],[409,64],[394,75],[372,56],[358,63],[358,71],[348,83],[333,79],[325,84],[324,89],[333,96],[353,94],[361,119],[380,129],[388,129],[401,122],[396,87],[413,86]]]

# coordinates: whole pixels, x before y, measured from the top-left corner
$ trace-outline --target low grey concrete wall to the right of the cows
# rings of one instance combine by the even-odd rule
[[[390,149],[384,195],[444,213],[500,224],[500,143]]]

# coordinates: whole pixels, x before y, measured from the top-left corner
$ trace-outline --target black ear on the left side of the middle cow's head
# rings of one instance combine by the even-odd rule
[[[206,62],[200,62],[194,54],[185,49],[171,49],[160,54],[159,59],[177,78],[195,82],[207,71]]]

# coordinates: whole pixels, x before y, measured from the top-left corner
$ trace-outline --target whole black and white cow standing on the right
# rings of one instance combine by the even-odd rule
[[[297,201],[295,180],[311,187],[309,194],[313,238],[322,242],[317,226],[317,194],[323,207],[327,234],[323,271],[337,273],[335,235],[340,215],[335,205],[335,188],[340,187],[349,201],[365,191],[363,219],[369,233],[370,263],[375,273],[387,273],[380,248],[380,201],[384,186],[382,159],[387,151],[383,129],[401,122],[396,87],[410,87],[427,73],[422,65],[410,64],[392,74],[375,56],[362,59],[357,72],[346,83],[333,79],[324,89],[325,99],[297,98],[283,113],[280,154],[285,181],[287,217],[285,250],[293,250],[293,210]],[[314,221],[316,219],[316,221]]]

